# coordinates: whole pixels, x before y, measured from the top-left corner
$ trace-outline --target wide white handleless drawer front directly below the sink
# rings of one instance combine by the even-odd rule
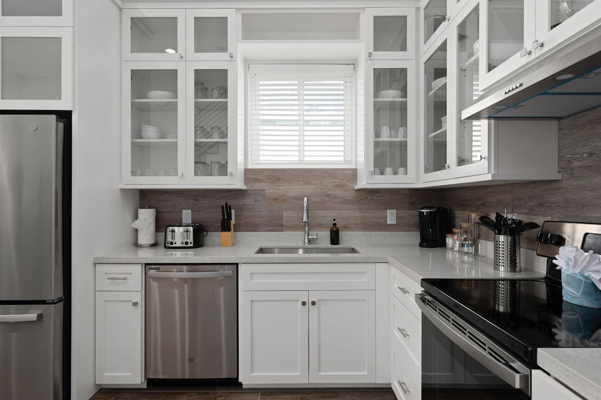
[[[375,290],[374,263],[240,264],[240,290]]]

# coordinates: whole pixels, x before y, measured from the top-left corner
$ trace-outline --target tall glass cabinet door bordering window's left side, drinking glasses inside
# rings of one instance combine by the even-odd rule
[[[187,184],[234,185],[236,76],[228,61],[187,62]]]

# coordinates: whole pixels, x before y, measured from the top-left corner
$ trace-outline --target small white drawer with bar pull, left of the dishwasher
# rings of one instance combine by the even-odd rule
[[[141,291],[142,264],[96,264],[96,290]]]

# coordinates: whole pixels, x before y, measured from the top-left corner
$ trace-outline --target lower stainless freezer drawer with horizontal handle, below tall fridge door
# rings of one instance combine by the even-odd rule
[[[0,397],[63,399],[63,303],[0,305]]]

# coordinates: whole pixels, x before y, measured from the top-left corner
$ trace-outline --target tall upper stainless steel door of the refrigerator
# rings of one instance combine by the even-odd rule
[[[0,301],[63,296],[62,127],[0,115]]]

